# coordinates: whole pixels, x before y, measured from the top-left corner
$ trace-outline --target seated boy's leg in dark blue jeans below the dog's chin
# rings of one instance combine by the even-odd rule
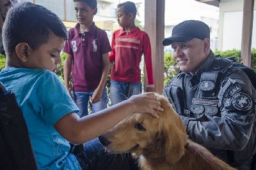
[[[76,158],[83,170],[134,170],[135,165],[131,157],[128,160],[125,155],[105,152],[98,138],[84,143],[84,152],[76,154]]]

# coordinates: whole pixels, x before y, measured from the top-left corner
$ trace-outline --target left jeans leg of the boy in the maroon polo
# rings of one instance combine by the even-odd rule
[[[79,117],[84,117],[88,115],[88,101],[90,97],[90,92],[72,92],[74,102],[79,108]]]

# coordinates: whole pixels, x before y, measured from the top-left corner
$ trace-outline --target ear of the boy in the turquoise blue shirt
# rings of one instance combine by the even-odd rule
[[[21,62],[28,62],[29,50],[30,46],[28,45],[28,43],[19,43],[15,47],[15,52]]]

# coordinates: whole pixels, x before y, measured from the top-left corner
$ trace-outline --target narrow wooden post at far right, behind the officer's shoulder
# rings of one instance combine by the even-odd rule
[[[252,25],[254,0],[244,0],[241,62],[251,67]]]

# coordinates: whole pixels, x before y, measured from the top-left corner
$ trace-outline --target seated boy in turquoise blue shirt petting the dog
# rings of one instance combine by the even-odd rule
[[[69,143],[96,138],[130,113],[157,117],[155,109],[163,109],[154,94],[145,94],[79,118],[76,104],[52,73],[66,39],[65,25],[43,6],[26,2],[13,7],[3,26],[6,68],[0,81],[15,92],[39,169],[106,169],[112,157],[99,144],[91,142],[91,150],[74,155]]]

